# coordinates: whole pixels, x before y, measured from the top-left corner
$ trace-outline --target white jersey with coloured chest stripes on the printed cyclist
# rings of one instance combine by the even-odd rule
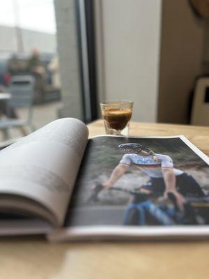
[[[175,175],[183,174],[180,169],[173,168],[173,160],[171,157],[162,154],[155,154],[157,161],[153,159],[153,155],[139,156],[134,153],[125,154],[120,161],[120,164],[136,165],[141,172],[144,172],[150,177],[162,177],[162,168],[172,168]]]

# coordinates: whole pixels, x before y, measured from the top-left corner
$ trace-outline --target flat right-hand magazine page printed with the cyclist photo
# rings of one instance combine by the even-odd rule
[[[209,235],[208,163],[183,136],[93,137],[49,239]]]

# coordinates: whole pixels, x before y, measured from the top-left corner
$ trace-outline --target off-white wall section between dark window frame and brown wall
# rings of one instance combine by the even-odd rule
[[[133,100],[133,120],[156,121],[161,0],[102,0],[101,10],[103,96]]]

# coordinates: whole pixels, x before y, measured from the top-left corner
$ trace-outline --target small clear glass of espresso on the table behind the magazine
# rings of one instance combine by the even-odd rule
[[[128,135],[133,102],[128,100],[107,101],[100,104],[106,134]]]

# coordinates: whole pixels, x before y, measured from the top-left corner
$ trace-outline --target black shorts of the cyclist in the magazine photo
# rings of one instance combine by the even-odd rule
[[[141,188],[151,190],[154,193],[162,195],[165,190],[164,179],[162,177],[150,178],[150,181],[148,181],[147,185],[142,186]],[[199,186],[199,183],[197,183],[191,175],[188,175],[185,172],[176,176],[176,188],[178,192],[185,197],[205,196],[203,190],[201,189],[201,186]]]

